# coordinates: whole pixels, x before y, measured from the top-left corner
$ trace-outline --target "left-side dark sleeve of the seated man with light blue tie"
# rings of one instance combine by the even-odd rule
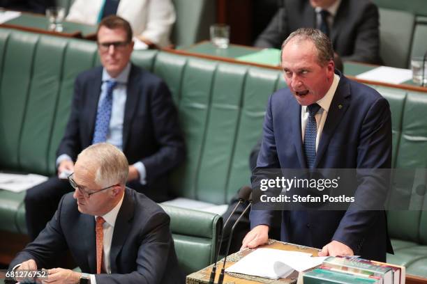
[[[77,155],[79,154],[82,146],[80,145],[80,110],[82,109],[82,82],[80,77],[75,79],[74,83],[74,95],[73,102],[71,104],[70,118],[68,118],[68,123],[66,127],[65,134],[59,143],[59,148],[57,151],[57,157],[60,155],[66,154],[75,161]]]

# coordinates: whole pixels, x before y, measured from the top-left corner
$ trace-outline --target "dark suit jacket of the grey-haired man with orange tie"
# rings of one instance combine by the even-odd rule
[[[112,236],[112,274],[96,275],[96,283],[184,283],[169,225],[156,203],[126,188]],[[95,217],[78,211],[72,193],[63,196],[52,220],[10,268],[29,259],[39,269],[56,267],[52,260],[67,249],[83,272],[96,274]]]

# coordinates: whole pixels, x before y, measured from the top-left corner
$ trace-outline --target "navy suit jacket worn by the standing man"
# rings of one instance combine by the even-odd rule
[[[341,107],[338,107],[341,105]],[[320,137],[315,168],[390,168],[389,104],[372,88],[340,77]],[[257,168],[306,168],[301,139],[301,106],[289,89],[271,95]],[[382,177],[363,177],[357,194],[386,198]],[[255,188],[255,184],[253,184]],[[292,216],[292,214],[294,214]],[[251,210],[251,228],[271,224],[272,212]],[[298,220],[293,222],[292,220]],[[391,244],[384,211],[283,211],[281,239],[322,248],[332,240],[350,246],[355,255],[385,260]]]

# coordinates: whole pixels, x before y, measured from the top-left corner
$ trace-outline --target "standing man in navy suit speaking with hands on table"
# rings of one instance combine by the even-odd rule
[[[269,99],[257,169],[369,169],[369,175],[357,171],[356,194],[382,203],[389,184],[375,170],[391,168],[387,100],[334,72],[331,42],[319,30],[292,33],[283,42],[281,58],[288,88]],[[270,210],[251,210],[243,247],[267,242],[272,216]],[[386,251],[392,251],[385,212],[352,206],[346,211],[284,210],[280,239],[322,248],[320,255],[385,261]]]

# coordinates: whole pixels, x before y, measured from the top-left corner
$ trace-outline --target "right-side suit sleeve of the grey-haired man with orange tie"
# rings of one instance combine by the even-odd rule
[[[96,274],[96,283],[160,283],[160,279],[167,274],[167,258],[172,246],[169,223],[167,214],[153,214],[140,233],[137,271],[130,274]]]

